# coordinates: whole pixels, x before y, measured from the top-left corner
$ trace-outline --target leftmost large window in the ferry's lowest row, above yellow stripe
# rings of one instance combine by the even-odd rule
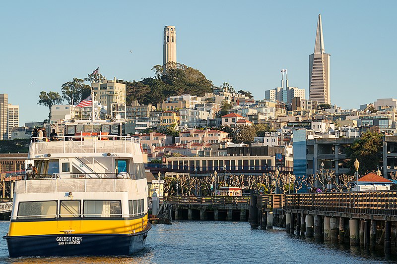
[[[57,202],[20,202],[17,219],[41,219],[57,217]]]

